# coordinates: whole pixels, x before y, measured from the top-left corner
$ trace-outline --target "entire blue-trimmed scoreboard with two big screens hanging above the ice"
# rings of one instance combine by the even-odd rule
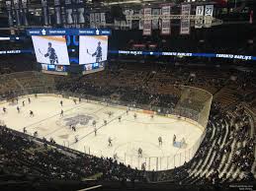
[[[104,70],[108,60],[110,30],[31,29],[37,62],[44,73],[89,74]]]

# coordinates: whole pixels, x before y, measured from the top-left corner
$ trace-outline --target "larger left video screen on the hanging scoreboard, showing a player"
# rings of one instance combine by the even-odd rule
[[[69,65],[65,36],[32,36],[37,61],[43,64]]]

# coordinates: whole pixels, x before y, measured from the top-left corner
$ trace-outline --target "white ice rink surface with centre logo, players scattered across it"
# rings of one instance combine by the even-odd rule
[[[63,106],[60,100],[63,100]],[[151,118],[150,114],[135,110],[127,113],[125,108],[94,101],[82,100],[75,104],[73,99],[63,97],[31,96],[31,103],[27,97],[20,97],[18,104],[6,102],[0,106],[0,120],[9,128],[23,132],[23,127],[26,127],[30,135],[38,131],[41,138],[53,138],[59,145],[97,157],[114,158],[116,155],[118,161],[131,167],[140,168],[145,162],[148,170],[173,168],[192,159],[195,153],[192,152],[193,147],[203,134],[202,129],[189,121],[158,115]],[[21,108],[20,113],[17,106]],[[6,113],[3,107],[7,108]],[[63,116],[60,116],[61,109]],[[30,116],[30,110],[34,111],[34,117]],[[137,118],[133,116],[135,112]],[[122,117],[121,121],[119,116]],[[94,120],[96,136],[92,125]],[[107,125],[104,125],[104,120],[107,120]],[[70,129],[70,124],[76,126],[75,132]],[[177,144],[185,138],[186,147],[173,145],[174,134]],[[162,146],[158,144],[159,136],[163,140]],[[77,143],[75,137],[79,140]],[[113,140],[113,146],[109,146],[109,138]],[[142,149],[142,158],[138,158],[138,148]]]

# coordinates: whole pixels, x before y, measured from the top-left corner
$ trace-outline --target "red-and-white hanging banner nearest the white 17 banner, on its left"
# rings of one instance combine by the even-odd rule
[[[191,11],[191,5],[181,6],[181,15],[189,16]],[[180,34],[190,34],[190,19],[181,19],[181,31]]]

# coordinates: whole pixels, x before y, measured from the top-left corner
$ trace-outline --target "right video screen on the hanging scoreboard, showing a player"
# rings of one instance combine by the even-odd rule
[[[79,64],[99,63],[107,60],[107,35],[81,35],[79,43]]]

